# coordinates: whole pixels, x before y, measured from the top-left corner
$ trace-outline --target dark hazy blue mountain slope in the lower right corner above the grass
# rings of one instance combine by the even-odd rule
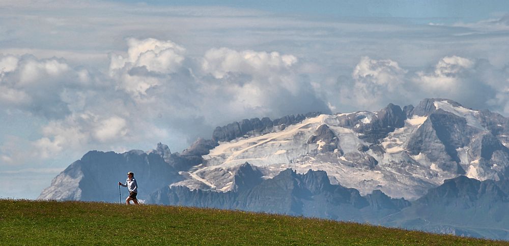
[[[447,179],[400,213],[379,223],[407,229],[509,239],[509,196],[504,182],[466,176]]]

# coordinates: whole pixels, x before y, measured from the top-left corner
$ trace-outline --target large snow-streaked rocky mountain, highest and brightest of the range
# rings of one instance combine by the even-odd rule
[[[246,122],[233,126],[240,130]],[[234,129],[232,124],[224,128]],[[216,129],[214,136],[219,131],[225,130]],[[416,199],[460,174],[504,178],[509,165],[507,120],[444,99],[403,110],[389,104],[378,112],[322,114],[264,131],[237,131],[219,140],[204,162],[181,171],[185,180],[173,186],[230,191],[235,170],[248,162],[266,178],[287,168],[324,170],[332,183],[363,195],[381,190]]]

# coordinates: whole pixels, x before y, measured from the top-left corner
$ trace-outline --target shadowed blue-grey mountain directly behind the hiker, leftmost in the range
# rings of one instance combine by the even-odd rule
[[[161,148],[161,149],[166,149]],[[168,149],[169,150],[169,149]],[[81,200],[118,202],[118,183],[124,182],[128,171],[134,172],[138,183],[138,198],[144,200],[161,183],[173,183],[182,177],[176,169],[164,161],[163,156],[152,151],[131,150],[125,153],[89,151],[81,160],[74,162],[56,176],[51,186],[46,188],[38,199]],[[168,151],[164,152],[166,154]],[[168,157],[175,166],[175,155]],[[73,187],[74,192],[69,192]],[[116,191],[116,192],[115,192]],[[122,199],[127,196],[126,190]]]

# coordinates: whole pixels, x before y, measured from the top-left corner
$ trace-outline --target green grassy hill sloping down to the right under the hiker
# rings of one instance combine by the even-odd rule
[[[157,205],[0,200],[0,245],[508,244],[302,217]]]

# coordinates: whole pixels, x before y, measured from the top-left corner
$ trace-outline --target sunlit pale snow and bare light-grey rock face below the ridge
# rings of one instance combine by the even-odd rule
[[[369,124],[373,113],[358,113],[362,124]],[[444,179],[455,177],[433,166],[426,156],[409,156],[405,146],[411,134],[418,129],[427,117],[414,116],[405,121],[405,126],[390,133],[381,142],[385,151],[359,150],[359,146],[369,146],[359,138],[359,133],[339,126],[340,115],[322,114],[307,118],[300,124],[288,126],[261,136],[238,138],[230,142],[220,142],[209,155],[204,156],[204,165],[194,167],[188,180],[174,185],[184,185],[190,189],[209,189],[220,192],[230,191],[235,171],[245,162],[258,167],[266,177],[273,177],[280,171],[292,168],[299,173],[309,169],[323,170],[332,183],[358,189],[362,195],[373,190],[382,190],[390,197],[416,199],[431,187],[440,185]],[[338,150],[321,152],[325,142],[307,144],[316,130],[327,125],[339,139]],[[378,164],[371,168],[359,165],[372,157]]]

